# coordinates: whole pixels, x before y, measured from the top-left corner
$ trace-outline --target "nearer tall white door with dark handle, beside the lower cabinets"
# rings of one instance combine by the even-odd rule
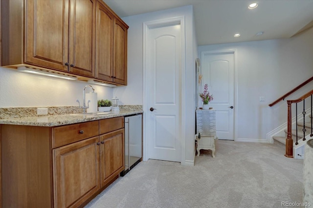
[[[150,28],[148,41],[149,158],[181,162],[180,25]]]

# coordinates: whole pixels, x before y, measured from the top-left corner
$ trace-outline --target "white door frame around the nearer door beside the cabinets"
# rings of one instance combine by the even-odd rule
[[[183,132],[183,126],[185,126],[185,65],[186,65],[186,59],[185,59],[185,17],[184,16],[179,16],[179,17],[173,17],[173,18],[166,18],[166,19],[161,19],[161,20],[155,20],[155,21],[146,21],[143,22],[142,24],[142,74],[143,74],[143,84],[142,84],[142,97],[143,97],[143,157],[142,159],[144,161],[147,161],[149,159],[149,151],[147,151],[150,147],[150,141],[147,139],[148,133],[147,129],[150,128],[149,124],[149,82],[148,82],[148,73],[147,69],[149,68],[148,66],[148,57],[149,57],[149,29],[153,29],[156,27],[165,27],[165,26],[171,26],[171,25],[180,25],[180,38],[181,38],[181,96],[180,96],[180,104],[181,104],[181,109],[180,109],[180,116],[181,116],[181,121],[179,123],[180,126],[180,144],[181,144],[181,159],[180,159],[180,164],[184,165],[185,164],[185,134]]]

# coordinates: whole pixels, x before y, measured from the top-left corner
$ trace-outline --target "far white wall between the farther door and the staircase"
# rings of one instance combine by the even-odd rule
[[[286,100],[313,89],[313,82],[272,107],[272,103],[313,76],[313,28],[290,39],[205,45],[202,51],[237,49],[238,140],[262,142],[287,122]],[[259,102],[264,96],[265,102]]]

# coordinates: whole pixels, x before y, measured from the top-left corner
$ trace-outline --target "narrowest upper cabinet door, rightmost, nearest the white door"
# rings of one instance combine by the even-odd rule
[[[127,85],[127,29],[128,26],[115,19],[113,82]]]

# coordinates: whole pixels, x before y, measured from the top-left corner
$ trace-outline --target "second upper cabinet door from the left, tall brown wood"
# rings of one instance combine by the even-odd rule
[[[70,0],[69,72],[94,77],[95,0]]]

